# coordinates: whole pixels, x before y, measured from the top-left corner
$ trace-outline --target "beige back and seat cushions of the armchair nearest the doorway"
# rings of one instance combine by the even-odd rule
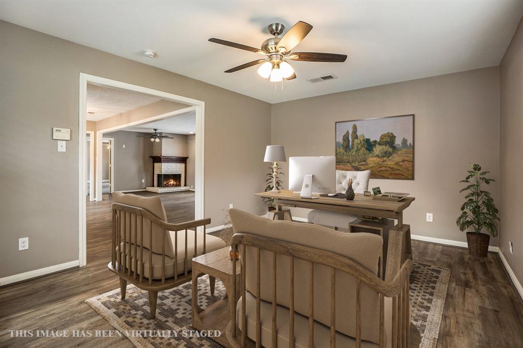
[[[160,196],[154,196],[154,197],[141,197],[138,195],[133,194],[122,194],[120,192],[113,193],[113,200],[115,203],[121,203],[128,206],[133,207],[139,207],[142,209],[145,209],[154,215],[156,215],[157,218],[162,219],[163,221],[167,221],[167,216],[165,213],[164,206],[162,204],[162,200],[160,199]],[[123,222],[120,226],[120,235],[122,237],[121,239],[121,247],[123,251],[123,236],[124,231],[127,232],[127,241],[131,241],[131,243],[126,243],[126,254],[127,254],[127,262],[130,262],[131,270],[134,271],[134,251],[135,249],[138,249],[138,258],[140,258],[140,218],[137,219],[138,221],[134,221],[134,219],[131,219],[130,216],[128,216],[125,220],[125,225]],[[135,248],[135,223],[138,223],[138,232],[137,232],[137,239],[138,243],[137,248]],[[161,279],[162,278],[162,235],[164,235],[164,230],[161,229],[160,226],[157,226],[156,224],[152,224],[153,226],[153,255],[152,255],[152,263],[153,263],[153,279]],[[144,270],[143,270],[143,277],[149,278],[149,250],[150,250],[150,244],[149,244],[149,236],[150,236],[151,226],[150,221],[148,219],[143,219],[143,262],[144,262]],[[174,249],[175,249],[175,232],[169,231],[169,233],[165,234],[165,278],[174,277]],[[217,250],[219,248],[223,248],[225,246],[225,242],[218,237],[212,236],[207,234],[206,235],[206,253],[209,253],[210,251]],[[185,230],[178,231],[178,262],[177,262],[177,273],[182,274],[185,272],[184,268],[184,258],[185,258]],[[116,248],[117,251],[118,247]],[[191,259],[195,256],[195,232],[192,230],[187,230],[187,270],[189,271],[191,269]],[[203,254],[203,233],[198,232],[197,234],[197,256]],[[118,254],[117,254],[118,255]],[[132,260],[130,260],[132,258]],[[122,257],[123,261],[123,257]],[[140,262],[140,259],[138,260]],[[129,263],[127,263],[129,265]],[[138,274],[140,274],[140,267],[138,267]]]

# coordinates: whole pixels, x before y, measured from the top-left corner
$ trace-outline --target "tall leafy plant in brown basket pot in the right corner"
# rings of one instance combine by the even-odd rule
[[[468,184],[460,190],[467,192],[466,201],[461,206],[461,214],[456,220],[461,231],[472,227],[471,232],[467,232],[467,244],[469,254],[485,257],[488,251],[490,236],[497,236],[497,222],[499,221],[498,210],[490,192],[482,189],[483,185],[489,185],[494,179],[487,178],[490,172],[482,172],[479,164],[469,164],[470,169],[467,177],[460,183]],[[481,233],[485,230],[490,235]]]

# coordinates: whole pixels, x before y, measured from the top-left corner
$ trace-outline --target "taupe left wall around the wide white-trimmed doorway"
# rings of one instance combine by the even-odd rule
[[[205,217],[221,225],[229,203],[264,211],[252,193],[265,180],[270,104],[5,21],[0,47],[0,178],[9,183],[0,191],[0,278],[78,259],[79,73],[204,101]],[[56,151],[52,127],[71,128],[67,152]],[[18,251],[20,237],[28,250]]]

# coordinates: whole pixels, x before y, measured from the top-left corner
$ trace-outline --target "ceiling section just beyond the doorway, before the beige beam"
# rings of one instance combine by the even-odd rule
[[[87,121],[100,121],[159,101],[150,95],[120,88],[87,85]],[[94,112],[90,114],[89,112]]]

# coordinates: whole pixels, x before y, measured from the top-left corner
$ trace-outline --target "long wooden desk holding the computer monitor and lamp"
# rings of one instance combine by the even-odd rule
[[[385,280],[394,279],[400,270],[401,263],[412,259],[411,227],[403,223],[403,211],[414,201],[414,197],[405,197],[399,202],[374,200],[372,196],[356,194],[354,200],[344,198],[320,197],[317,199],[301,198],[299,193],[282,190],[279,193],[261,192],[254,194],[257,197],[274,198],[278,210],[281,207],[295,207],[335,211],[353,215],[367,215],[376,218],[397,220],[397,224],[390,230],[388,258],[385,266]]]

